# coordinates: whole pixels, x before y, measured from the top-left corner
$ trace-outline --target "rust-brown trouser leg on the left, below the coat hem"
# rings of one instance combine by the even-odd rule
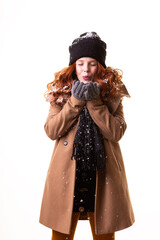
[[[79,216],[79,212],[73,212],[70,234],[65,234],[52,230],[52,240],[73,240]]]

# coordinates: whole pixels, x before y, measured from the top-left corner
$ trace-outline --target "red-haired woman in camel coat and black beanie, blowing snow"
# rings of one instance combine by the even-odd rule
[[[114,239],[134,223],[118,141],[126,130],[119,70],[106,67],[106,43],[95,32],[69,47],[69,67],[48,84],[45,123],[56,140],[44,188],[40,223],[52,239],[73,239],[77,221],[89,219],[93,239]]]

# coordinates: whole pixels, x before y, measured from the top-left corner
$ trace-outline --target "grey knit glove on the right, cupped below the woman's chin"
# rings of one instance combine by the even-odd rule
[[[96,99],[100,94],[100,85],[96,82],[89,82],[85,84],[85,100],[91,101],[93,99]]]

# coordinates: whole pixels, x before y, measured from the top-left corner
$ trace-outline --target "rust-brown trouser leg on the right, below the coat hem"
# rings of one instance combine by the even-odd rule
[[[93,240],[115,240],[115,233],[108,234],[95,234],[95,221],[94,221],[94,212],[88,212],[89,222],[91,225]]]

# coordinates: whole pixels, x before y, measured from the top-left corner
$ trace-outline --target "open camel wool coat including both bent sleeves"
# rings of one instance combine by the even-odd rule
[[[96,234],[107,234],[134,223],[118,143],[126,130],[121,97],[104,103],[100,97],[84,102],[71,96],[63,107],[50,105],[44,128],[48,137],[56,141],[47,172],[39,221],[55,231],[70,234],[76,175],[76,161],[71,160],[71,156],[79,114],[84,105],[104,136],[106,164],[96,172],[94,217]]]

